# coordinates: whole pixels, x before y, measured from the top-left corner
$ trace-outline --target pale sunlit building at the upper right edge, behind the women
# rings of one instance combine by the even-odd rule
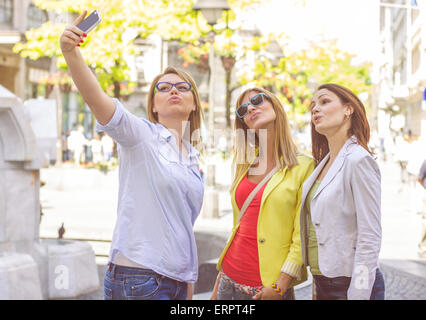
[[[426,134],[426,3],[381,0],[379,134]]]

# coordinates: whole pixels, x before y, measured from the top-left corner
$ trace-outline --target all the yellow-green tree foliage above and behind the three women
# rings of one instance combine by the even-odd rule
[[[210,26],[202,15],[192,7],[195,0],[35,0],[37,6],[58,14],[68,14],[69,22],[83,10],[90,13],[98,9],[102,23],[86,38],[81,50],[88,65],[97,74],[101,86],[110,94],[120,94],[120,83],[130,79],[130,68],[126,57],[137,54],[133,40],[158,34],[165,40],[178,40],[187,44],[180,51],[187,63],[197,63],[200,57],[208,57],[208,32]],[[270,36],[253,37],[250,41],[241,41],[238,31],[242,25],[236,25],[236,17],[245,10],[267,5],[268,0],[228,0],[231,11],[223,14],[217,24],[216,53],[221,57],[234,58],[236,61],[255,52],[253,67],[237,72],[237,79],[231,83],[227,72],[227,109],[230,109],[230,96],[235,88],[244,84],[254,84],[269,88],[291,106],[295,114],[308,110],[312,95],[312,82],[317,84],[335,82],[345,85],[356,93],[368,92],[369,65],[353,65],[353,55],[338,49],[336,43],[327,42],[310,48],[290,52],[284,47],[284,57],[279,63],[272,63],[267,54]],[[303,0],[293,0],[294,4],[303,4]],[[232,28],[226,28],[226,25]],[[65,23],[46,22],[37,29],[26,32],[26,41],[15,45],[15,52],[23,57],[36,60],[41,57],[57,57],[58,67],[66,70],[66,64],[59,48],[59,37]],[[276,36],[284,43],[285,36]],[[199,49],[197,49],[197,47]],[[185,53],[186,57],[185,58]],[[111,85],[114,90],[110,90]],[[229,110],[227,112],[229,115]]]

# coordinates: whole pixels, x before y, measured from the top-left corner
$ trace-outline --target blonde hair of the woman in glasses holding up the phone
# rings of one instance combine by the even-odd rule
[[[188,121],[190,124],[190,131],[189,131],[190,142],[193,146],[196,146],[198,144],[198,147],[200,147],[202,145],[201,132],[200,132],[201,120],[202,120],[202,108],[201,108],[200,96],[198,94],[197,85],[195,84],[194,79],[192,79],[192,77],[185,71],[174,68],[174,67],[167,67],[163,71],[163,73],[159,74],[158,76],[154,78],[148,92],[148,104],[147,104],[148,120],[153,123],[158,123],[158,115],[153,111],[154,91],[155,91],[155,85],[157,84],[158,80],[160,80],[160,78],[165,76],[166,74],[176,74],[184,81],[189,82],[192,86],[191,92],[194,97],[195,110],[191,111],[188,117]]]

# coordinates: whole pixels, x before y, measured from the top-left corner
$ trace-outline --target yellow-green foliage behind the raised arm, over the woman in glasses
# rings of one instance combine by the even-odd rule
[[[241,12],[259,5],[261,0],[229,0],[233,10]],[[119,94],[119,84],[130,79],[126,57],[137,54],[133,40],[146,38],[152,33],[165,40],[197,43],[210,27],[192,10],[195,0],[35,0],[41,9],[57,14],[68,14],[69,22],[79,13],[95,9],[101,12],[102,23],[92,31],[81,46],[88,65],[95,71],[102,88],[114,85]],[[235,14],[223,15],[222,21],[232,21]],[[46,22],[37,29],[26,32],[25,42],[15,45],[14,51],[22,57],[37,60],[57,57],[58,68],[66,70],[59,38],[65,23]]]

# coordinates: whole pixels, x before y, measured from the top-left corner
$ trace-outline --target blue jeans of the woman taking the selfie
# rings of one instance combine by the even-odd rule
[[[187,283],[150,269],[110,263],[104,279],[105,300],[186,300]]]

